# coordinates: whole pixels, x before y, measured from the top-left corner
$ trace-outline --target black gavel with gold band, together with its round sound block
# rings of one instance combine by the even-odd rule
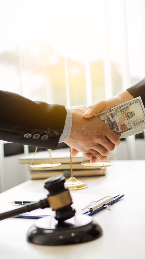
[[[27,233],[27,241],[39,245],[66,245],[91,241],[102,235],[102,229],[90,216],[75,215],[72,197],[68,188],[64,187],[62,175],[45,180],[44,188],[48,190],[47,198],[32,202],[21,208],[1,213],[0,220],[30,212],[38,208],[51,207],[55,216],[36,220]]]

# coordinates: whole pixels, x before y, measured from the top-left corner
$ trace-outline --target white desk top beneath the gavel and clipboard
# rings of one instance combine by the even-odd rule
[[[92,216],[101,225],[103,235],[94,241],[77,245],[35,245],[26,241],[26,233],[36,220],[9,218],[0,221],[1,259],[145,258],[145,161],[114,161],[114,165],[107,168],[106,176],[78,179],[89,187],[71,191],[77,207],[81,197],[84,204],[85,197],[88,203],[89,199],[98,195],[125,195],[110,209]],[[35,200],[37,196],[44,197],[45,193],[43,180],[29,180],[0,194],[0,212],[15,208],[9,205],[10,200],[28,197]]]

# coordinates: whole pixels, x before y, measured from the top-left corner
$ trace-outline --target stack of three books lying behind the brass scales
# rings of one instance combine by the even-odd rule
[[[56,149],[51,151],[54,163],[61,163],[58,167],[36,168],[28,165],[31,179],[46,179],[51,176],[62,174],[70,177],[70,152],[69,148]],[[25,155],[19,158],[20,163],[30,164],[34,154]],[[105,169],[88,168],[81,165],[83,155],[79,152],[76,157],[72,157],[73,176],[102,176],[105,175]],[[86,159],[85,159],[86,161]],[[33,164],[50,163],[48,151],[41,151],[35,154]]]

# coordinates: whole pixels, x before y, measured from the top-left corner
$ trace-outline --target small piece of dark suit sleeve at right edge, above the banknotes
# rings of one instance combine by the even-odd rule
[[[126,89],[134,98],[140,96],[145,106],[145,77],[137,84]]]

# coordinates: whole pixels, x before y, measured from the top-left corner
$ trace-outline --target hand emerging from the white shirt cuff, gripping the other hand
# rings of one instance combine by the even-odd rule
[[[72,129],[68,139],[64,142],[72,147],[71,155],[77,155],[78,151],[87,153],[87,158],[92,163],[99,160],[107,160],[109,151],[119,145],[120,139],[99,118],[85,119],[83,114],[85,106],[70,107],[73,115]]]

